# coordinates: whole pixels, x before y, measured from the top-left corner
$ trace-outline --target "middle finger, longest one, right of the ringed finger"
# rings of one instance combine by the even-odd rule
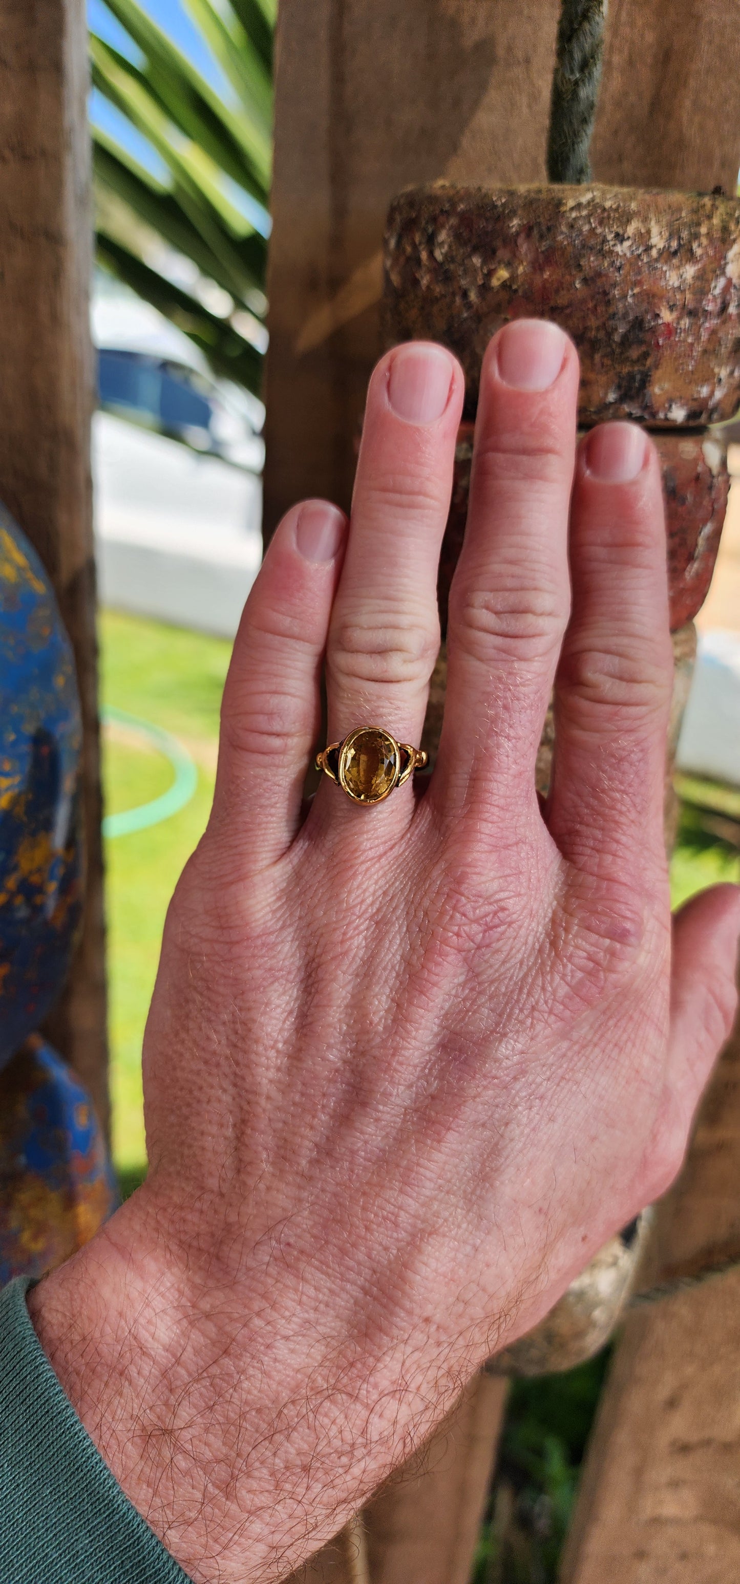
[[[475,824],[537,814],[534,763],[570,608],[567,524],[578,356],[515,320],[480,372],[471,499],[450,589],[447,700],[433,798]]]

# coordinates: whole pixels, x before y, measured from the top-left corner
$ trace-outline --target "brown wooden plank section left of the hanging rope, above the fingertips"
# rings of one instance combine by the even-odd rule
[[[280,0],[265,526],[349,505],[401,187],[545,179],[559,0]],[[336,326],[336,328],[333,328]]]

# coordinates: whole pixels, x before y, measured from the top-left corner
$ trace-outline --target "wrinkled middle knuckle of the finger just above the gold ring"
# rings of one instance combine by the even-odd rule
[[[439,653],[439,624],[396,613],[342,616],[330,635],[330,675],[339,683],[426,681]]]

